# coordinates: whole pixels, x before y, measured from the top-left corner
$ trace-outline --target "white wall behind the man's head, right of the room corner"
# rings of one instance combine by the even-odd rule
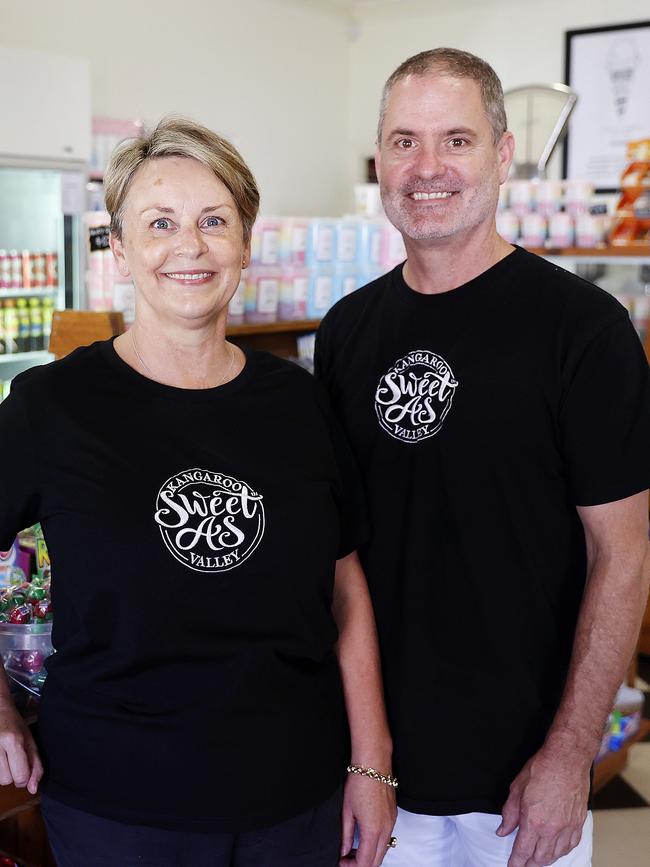
[[[456,0],[450,4],[384,0],[360,14],[350,66],[351,168],[363,179],[374,152],[377,107],[384,81],[418,51],[450,46],[483,57],[504,89],[564,81],[564,31],[650,18],[647,0]],[[428,7],[428,9],[427,9]]]

